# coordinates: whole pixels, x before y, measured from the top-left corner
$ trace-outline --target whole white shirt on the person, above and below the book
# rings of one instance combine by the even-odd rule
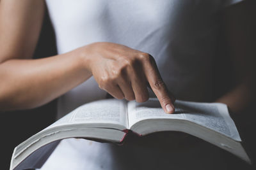
[[[218,12],[227,4],[237,1],[46,0],[46,2],[56,32],[58,53],[69,52],[97,41],[120,43],[150,53],[156,59],[168,89],[178,99],[211,100],[212,60],[216,54],[220,27]],[[106,92],[100,90],[95,80],[91,78],[60,97],[59,117],[62,113],[68,113],[83,103],[104,97]],[[135,161],[136,167],[140,167],[138,169],[141,167],[157,169],[159,164],[166,165],[166,162],[170,161],[170,164],[174,165],[177,160],[170,150],[155,149],[148,153],[148,148],[143,146],[128,144],[125,147],[124,149],[111,144],[66,139],[52,153],[42,170],[125,169],[131,167],[132,161]],[[198,145],[196,147],[199,148]],[[182,150],[179,154],[193,157],[196,150],[192,148]],[[130,160],[128,155],[131,155],[131,161],[125,160]],[[149,167],[145,166],[147,160],[150,163]]]

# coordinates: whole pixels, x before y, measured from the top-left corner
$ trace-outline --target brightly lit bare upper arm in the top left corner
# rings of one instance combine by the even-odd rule
[[[0,63],[32,57],[44,10],[44,0],[0,0]]]

